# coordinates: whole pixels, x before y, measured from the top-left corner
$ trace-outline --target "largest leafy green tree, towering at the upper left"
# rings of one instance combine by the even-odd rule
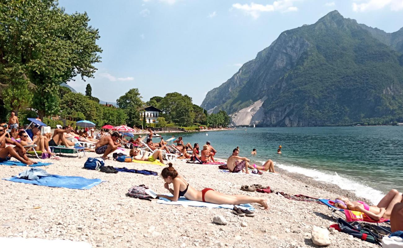
[[[41,117],[57,112],[52,108],[58,106],[54,95],[60,82],[93,77],[102,52],[98,30],[88,26],[86,13],[66,14],[54,0],[4,0],[0,9],[0,86],[20,99],[18,104],[6,99],[7,104],[29,104],[31,88]]]

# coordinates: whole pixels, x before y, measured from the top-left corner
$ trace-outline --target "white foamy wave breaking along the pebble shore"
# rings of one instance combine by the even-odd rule
[[[265,161],[259,161],[264,164]],[[378,202],[385,195],[379,190],[375,190],[367,185],[357,183],[351,179],[341,177],[336,172],[327,173],[324,171],[318,171],[316,169],[305,169],[295,165],[284,165],[281,163],[274,162],[274,165],[278,168],[284,169],[292,173],[299,173],[307,177],[311,177],[316,181],[322,181],[325,183],[332,183],[339,186],[343,190],[350,190],[359,197],[366,198],[372,202],[372,204],[378,204]]]

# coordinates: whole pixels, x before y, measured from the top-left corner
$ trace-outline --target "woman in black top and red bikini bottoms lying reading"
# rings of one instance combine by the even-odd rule
[[[268,209],[268,202],[262,197],[253,197],[245,195],[226,195],[220,192],[214,191],[213,189],[206,188],[202,191],[195,190],[192,186],[183,179],[183,177],[178,175],[178,172],[172,167],[172,163],[169,163],[169,167],[165,167],[161,172],[162,178],[164,178],[164,187],[173,195],[157,195],[171,201],[176,202],[179,196],[185,196],[188,200],[199,201],[199,202],[210,202],[214,204],[246,204],[256,202],[264,206],[264,209]],[[169,184],[174,185],[174,189],[169,188]]]

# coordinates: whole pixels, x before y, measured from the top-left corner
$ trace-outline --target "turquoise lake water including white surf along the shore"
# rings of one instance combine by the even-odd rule
[[[245,131],[246,130],[246,131]],[[179,136],[178,134],[175,134]],[[165,139],[172,135],[164,134]],[[376,203],[384,193],[403,190],[403,127],[238,128],[231,131],[181,133],[200,146],[210,140],[216,157],[240,156],[255,163],[272,159],[277,167],[353,190]],[[277,154],[278,145],[283,154]],[[258,154],[250,154],[253,148]]]

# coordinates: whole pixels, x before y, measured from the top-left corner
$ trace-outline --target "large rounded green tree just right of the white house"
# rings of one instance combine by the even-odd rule
[[[164,111],[164,117],[170,123],[178,123],[181,126],[194,123],[192,98],[188,95],[178,92],[168,93],[160,101],[160,109]]]

